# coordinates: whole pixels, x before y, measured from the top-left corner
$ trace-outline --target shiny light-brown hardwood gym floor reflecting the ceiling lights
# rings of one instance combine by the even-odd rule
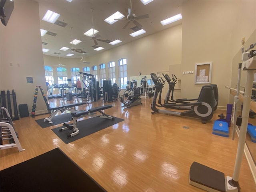
[[[0,170],[59,147],[108,192],[201,192],[188,183],[194,161],[232,177],[238,137],[232,140],[232,126],[229,138],[212,134],[214,120],[226,111],[216,110],[214,118],[202,124],[199,119],[152,115],[151,101],[142,99],[142,105],[130,109],[121,108],[119,101],[113,102],[113,108],[105,113],[125,121],[69,144],[51,130],[61,125],[41,128],[36,123],[36,119],[49,114],[20,118],[14,121],[14,127],[26,150],[1,150]],[[51,99],[50,106],[72,102],[79,101]],[[79,106],[79,110],[102,105],[101,98]],[[241,192],[256,191],[244,155],[239,183]]]

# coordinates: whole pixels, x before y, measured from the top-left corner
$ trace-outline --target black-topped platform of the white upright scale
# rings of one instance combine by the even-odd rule
[[[193,162],[189,170],[189,183],[206,191],[226,191],[224,173]]]

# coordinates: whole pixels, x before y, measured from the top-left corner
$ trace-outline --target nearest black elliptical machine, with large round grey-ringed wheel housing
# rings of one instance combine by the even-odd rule
[[[206,124],[207,120],[212,119],[214,112],[214,91],[212,86],[203,86],[201,92],[199,94],[198,100],[195,103],[188,104],[176,104],[176,103],[167,103],[163,105],[156,104],[156,99],[158,94],[162,92],[162,88],[164,87],[164,82],[156,76],[156,74],[151,73],[151,79],[155,84],[155,93],[151,104],[152,114],[163,113],[163,114],[171,114],[177,116],[187,116],[192,118],[200,118],[203,124]],[[181,107],[190,107],[190,109],[186,109],[183,112],[177,112],[167,109],[181,109]],[[156,107],[164,107],[167,109],[159,109]]]

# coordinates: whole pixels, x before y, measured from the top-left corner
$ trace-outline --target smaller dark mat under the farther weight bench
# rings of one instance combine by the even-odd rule
[[[49,114],[50,116],[50,114]],[[36,120],[36,122],[38,123],[38,125],[40,125],[40,127],[42,128],[46,128],[46,127],[50,127],[53,125],[58,125],[58,124],[62,124],[64,122],[68,122],[72,120],[72,116],[70,113],[64,113],[61,115],[56,115],[54,116],[54,118],[52,118],[52,123],[49,123],[48,121],[44,122],[44,118],[43,119],[38,119]]]

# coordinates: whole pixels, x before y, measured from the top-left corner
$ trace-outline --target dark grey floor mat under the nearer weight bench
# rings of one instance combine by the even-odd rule
[[[62,132],[59,132],[60,128],[63,128],[64,126],[57,127],[52,129],[52,131],[66,144],[73,142],[75,140],[78,140],[80,138],[83,138],[85,136],[88,136],[92,133],[98,132],[104,128],[107,128],[109,126],[112,126],[114,124],[117,124],[119,122],[124,121],[124,119],[120,119],[115,117],[114,120],[106,119],[106,118],[99,118],[99,117],[93,117],[88,118],[86,120],[78,121],[76,123],[76,126],[79,129],[79,134],[67,138],[67,135],[72,133],[72,130],[65,130]]]

